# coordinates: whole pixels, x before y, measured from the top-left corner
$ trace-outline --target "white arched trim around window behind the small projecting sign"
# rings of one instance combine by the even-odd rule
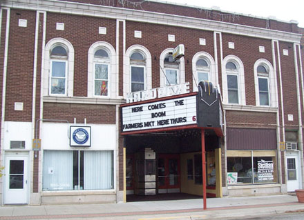
[[[160,87],[165,86],[166,78],[164,77],[164,59],[167,57],[169,52],[173,52],[174,48],[167,48],[166,50],[162,51],[160,54]],[[173,68],[172,68],[173,69]],[[180,64],[178,68],[178,82],[180,84],[185,82],[185,75],[184,75],[184,57],[180,59]]]

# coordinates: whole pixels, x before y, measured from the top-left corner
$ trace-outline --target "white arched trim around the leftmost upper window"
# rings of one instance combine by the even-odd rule
[[[66,72],[66,96],[73,97],[73,83],[74,83],[74,48],[72,44],[63,38],[54,38],[46,43],[46,50],[44,51],[44,73],[43,73],[43,95],[44,96],[63,96],[62,94],[50,94],[50,50],[55,46],[64,45],[68,48],[67,72]]]

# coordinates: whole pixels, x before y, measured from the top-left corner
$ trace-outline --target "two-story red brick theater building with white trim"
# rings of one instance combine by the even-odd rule
[[[5,0],[0,17],[1,204],[202,195],[203,136],[208,197],[303,188],[295,21],[135,0]],[[169,129],[124,132],[124,107],[183,106],[200,81],[222,97],[222,135],[183,116]],[[142,101],[156,88],[187,92]]]

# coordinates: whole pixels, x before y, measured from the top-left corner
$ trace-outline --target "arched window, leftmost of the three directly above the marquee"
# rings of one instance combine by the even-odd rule
[[[130,57],[131,67],[131,92],[145,90],[146,57],[141,52],[135,51]]]

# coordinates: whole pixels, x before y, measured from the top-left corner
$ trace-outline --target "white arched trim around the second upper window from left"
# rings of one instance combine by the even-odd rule
[[[106,50],[109,56],[109,63],[107,62],[95,62],[94,61],[94,53],[99,48]],[[107,63],[108,64],[108,95],[95,95],[95,65],[94,63]],[[91,45],[88,49],[88,98],[96,98],[96,99],[116,99],[118,97],[118,73],[116,68],[116,52],[113,46],[110,43],[106,43],[104,41],[97,41]]]

